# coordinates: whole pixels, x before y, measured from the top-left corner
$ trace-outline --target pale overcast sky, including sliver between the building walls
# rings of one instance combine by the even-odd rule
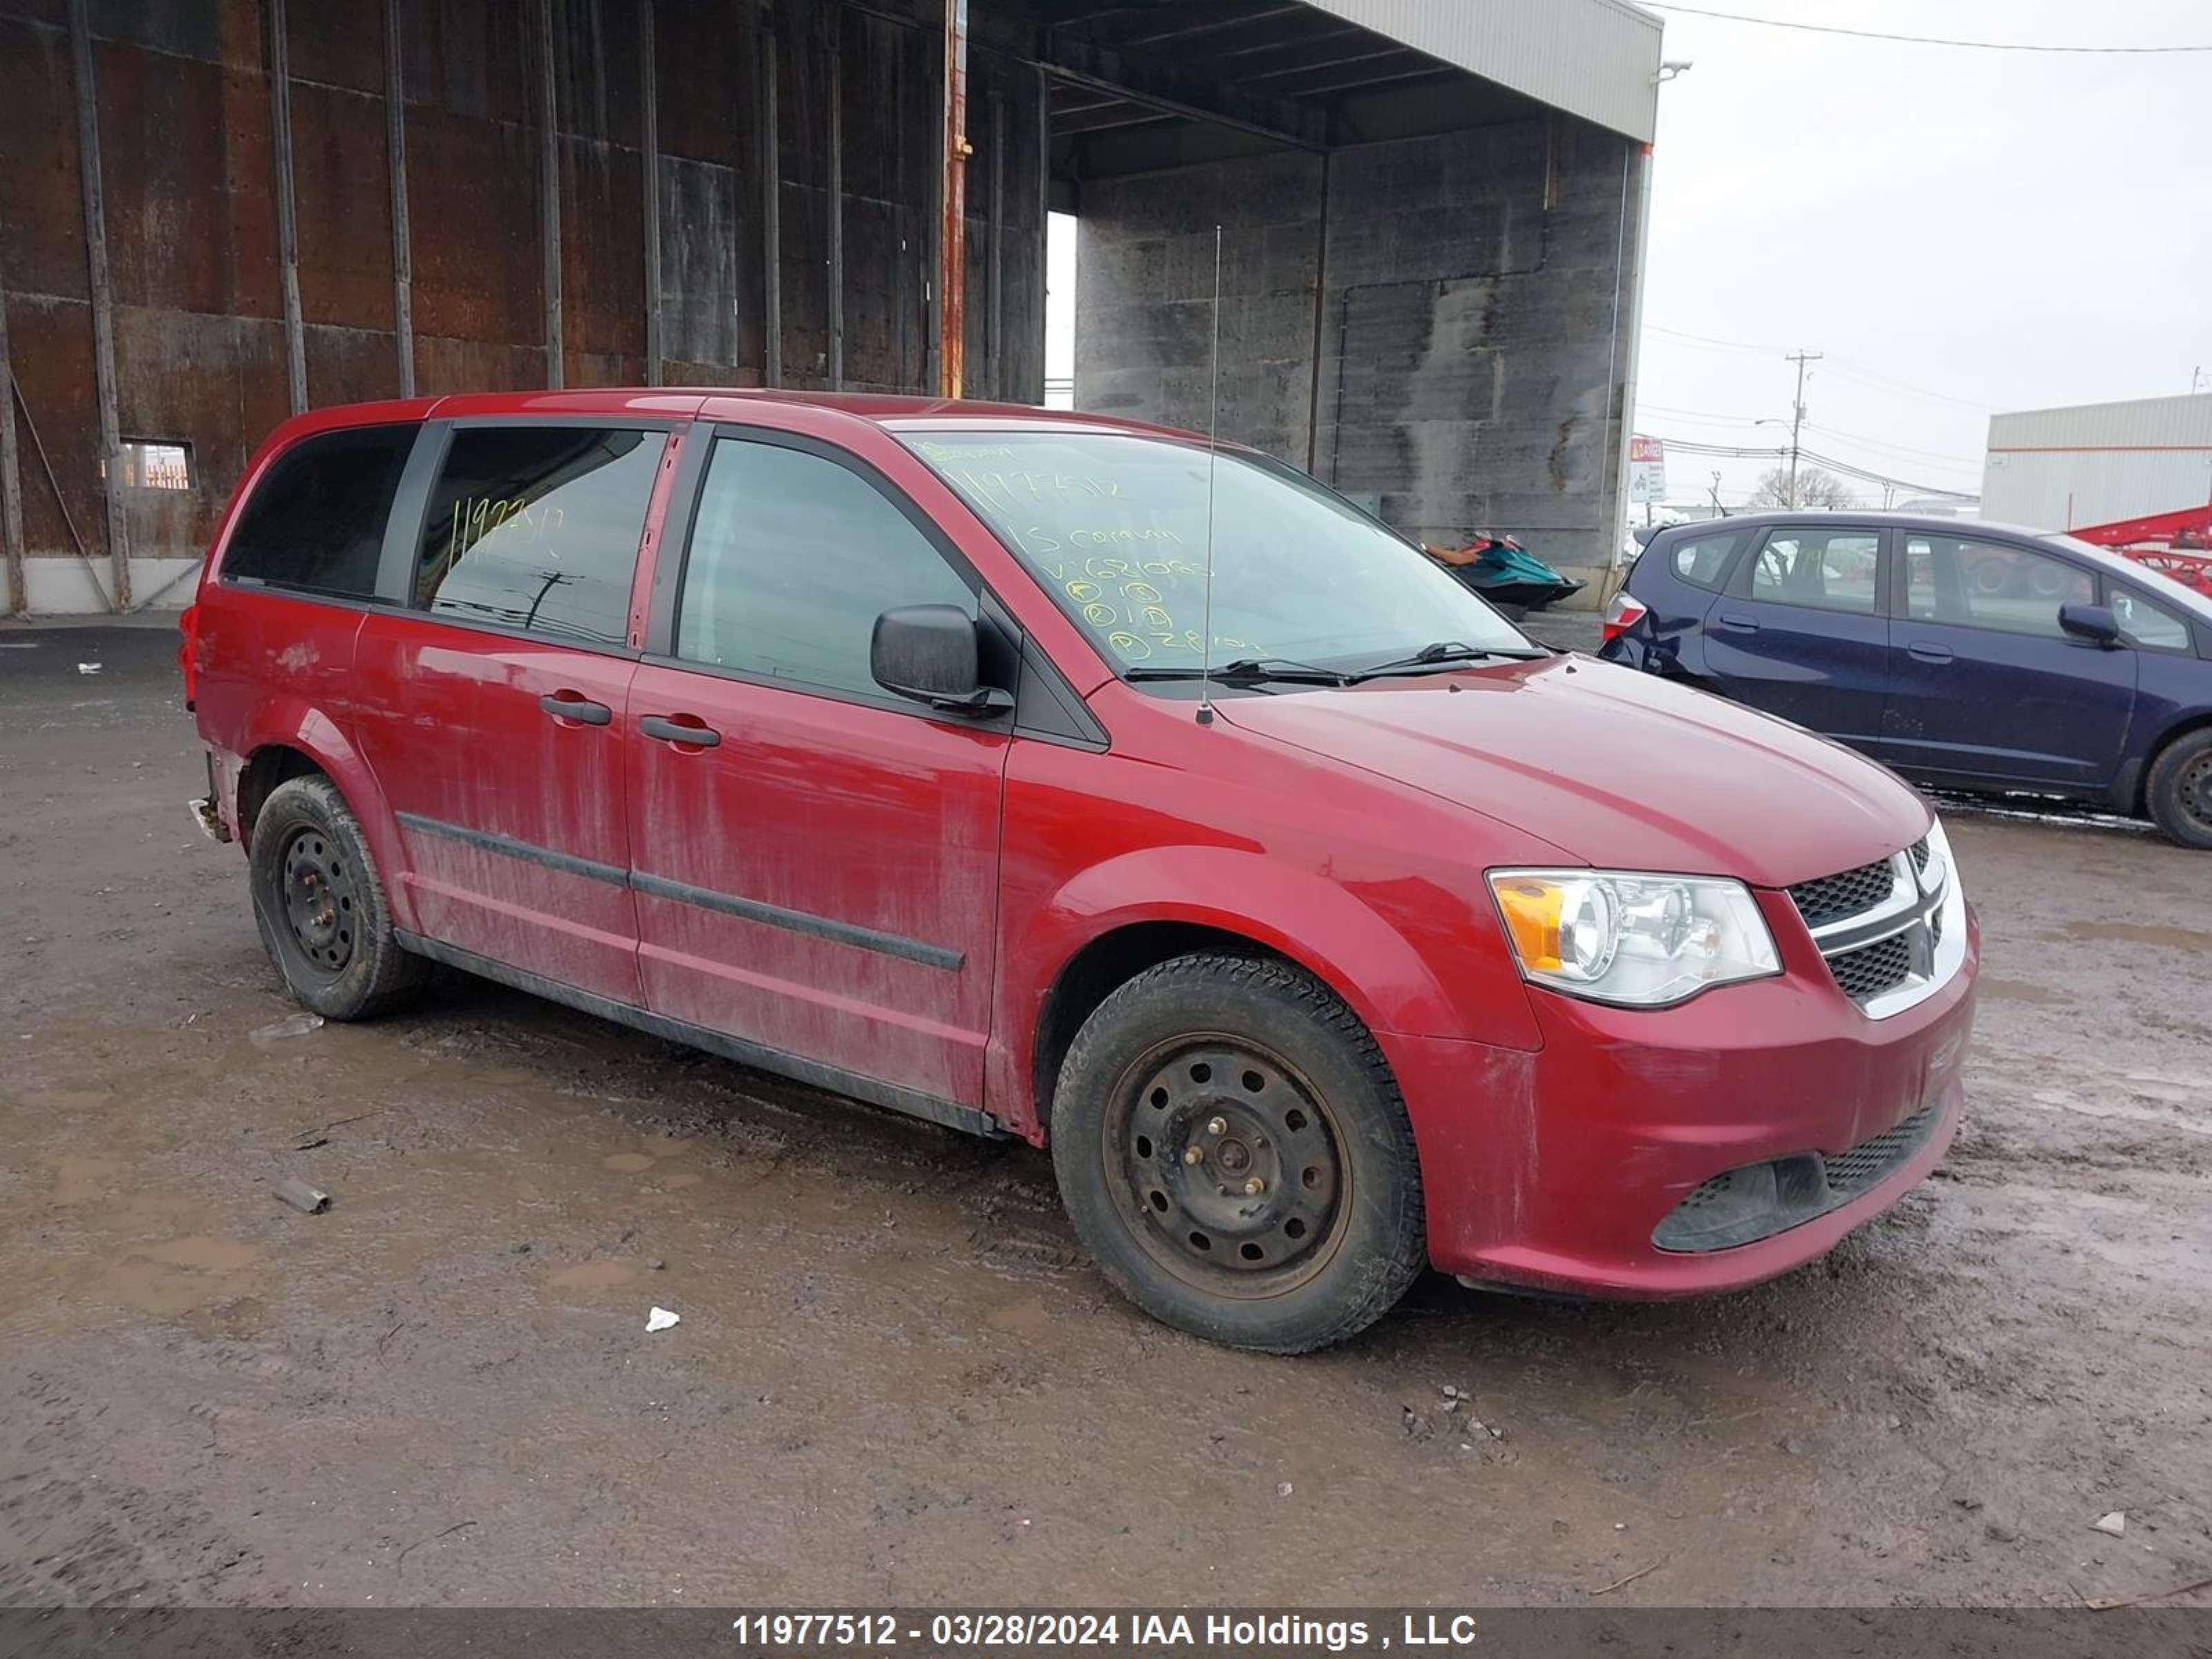
[[[1440,0],[1442,2],[1442,0]],[[1469,0],[1449,0],[1464,4]],[[2212,0],[1699,0],[2042,44],[2208,44]],[[1637,431],[1978,491],[1989,416],[2212,389],[2212,53],[1962,51],[1666,15]],[[1055,226],[1073,230],[1073,221]],[[1048,374],[1071,374],[1073,234]],[[1683,338],[1703,336],[1703,338]],[[1670,451],[1668,495],[1772,460]],[[1854,482],[1880,504],[1880,484]],[[1911,491],[1900,491],[1905,500]]]

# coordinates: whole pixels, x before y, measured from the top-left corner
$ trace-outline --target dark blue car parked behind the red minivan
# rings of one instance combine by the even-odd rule
[[[1604,630],[1608,661],[1916,783],[2097,801],[2212,849],[2212,599],[2088,542],[1898,513],[1674,524]]]

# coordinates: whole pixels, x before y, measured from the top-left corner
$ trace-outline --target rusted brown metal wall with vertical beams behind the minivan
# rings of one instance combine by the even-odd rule
[[[310,405],[400,394],[403,257],[422,394],[546,385],[555,321],[566,385],[646,380],[653,276],[668,383],[759,385],[774,345],[790,387],[827,387],[838,367],[854,389],[931,387],[938,0],[657,0],[653,86],[650,0],[394,0],[396,62],[378,0],[75,2],[97,100],[117,431],[184,440],[195,469],[184,493],[124,491],[133,602],[184,599],[177,573],[290,407],[281,113]],[[0,0],[0,303],[22,389],[27,568],[33,608],[49,611],[113,591],[69,15],[71,0]],[[1018,33],[1000,18],[998,44],[971,58],[967,385],[1040,400],[1040,82],[1006,49]]]

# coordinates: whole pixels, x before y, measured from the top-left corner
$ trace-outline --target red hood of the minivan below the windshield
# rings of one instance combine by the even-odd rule
[[[1234,697],[1248,732],[1376,772],[1606,869],[1787,887],[1929,830],[1889,770],[1719,697],[1588,657]]]

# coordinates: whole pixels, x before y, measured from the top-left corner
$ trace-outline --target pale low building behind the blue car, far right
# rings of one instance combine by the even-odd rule
[[[2212,392],[1989,418],[1982,515],[2070,531],[2212,502]]]

